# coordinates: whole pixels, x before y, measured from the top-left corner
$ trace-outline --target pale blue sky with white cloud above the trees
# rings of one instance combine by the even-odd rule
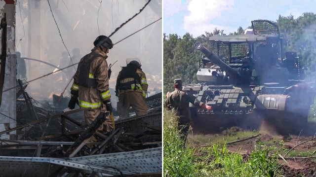
[[[163,0],[163,33],[197,37],[217,28],[228,35],[239,26],[246,29],[251,20],[297,18],[316,13],[315,6],[316,0]]]

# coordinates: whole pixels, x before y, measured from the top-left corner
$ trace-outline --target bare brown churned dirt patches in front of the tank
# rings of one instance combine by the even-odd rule
[[[234,127],[233,129],[223,130],[221,132],[214,133],[206,133],[201,129],[201,127],[197,127],[196,124],[192,123],[191,126],[195,130],[196,134],[201,134],[203,132],[203,136],[205,138],[213,138],[214,136],[234,136],[234,131],[249,131],[249,130],[239,130]],[[257,128],[260,133],[260,141],[267,145],[275,145],[274,141],[283,140],[284,147],[287,148],[286,152],[290,150],[292,147],[296,146],[301,142],[308,141],[315,136],[316,133],[316,123],[309,123],[308,126],[303,130],[299,135],[281,135],[277,128],[268,122],[262,121],[260,126]],[[190,137],[190,135],[189,135]],[[251,154],[252,150],[255,147],[258,138],[253,138],[250,140],[236,142],[232,144],[227,144],[227,149],[232,152],[241,153],[244,156],[244,159],[249,158],[249,154]],[[191,140],[191,142],[194,142]],[[193,146],[205,146],[205,144],[197,144],[193,143]],[[316,139],[310,142],[303,143],[297,147],[295,147],[296,152],[314,152],[316,150]],[[202,154],[200,154],[202,155]],[[284,154],[282,154],[284,155]],[[315,154],[313,156],[316,156]],[[289,155],[287,155],[289,157]],[[287,159],[287,163],[284,160],[279,160],[280,168],[284,171],[284,177],[316,177],[316,158],[307,158],[307,159]]]

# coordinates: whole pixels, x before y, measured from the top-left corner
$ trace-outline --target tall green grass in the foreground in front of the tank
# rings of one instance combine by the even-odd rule
[[[165,177],[281,177],[275,146],[257,143],[248,160],[219,143],[209,147],[183,147],[176,117],[164,113],[163,170]]]

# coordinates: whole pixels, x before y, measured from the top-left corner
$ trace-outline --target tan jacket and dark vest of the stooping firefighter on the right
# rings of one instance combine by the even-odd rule
[[[143,97],[146,98],[148,84],[146,75],[142,69],[134,68],[133,65],[123,67],[118,73],[116,93],[119,95],[124,92],[141,92]]]

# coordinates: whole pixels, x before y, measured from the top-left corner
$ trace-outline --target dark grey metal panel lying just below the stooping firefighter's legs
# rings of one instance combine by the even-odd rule
[[[118,120],[115,122],[115,128],[124,129],[129,133],[139,133],[145,132],[146,130],[151,130],[145,126],[145,123],[156,125],[162,127],[162,114],[161,112],[149,114],[146,116],[128,118],[123,120]]]

